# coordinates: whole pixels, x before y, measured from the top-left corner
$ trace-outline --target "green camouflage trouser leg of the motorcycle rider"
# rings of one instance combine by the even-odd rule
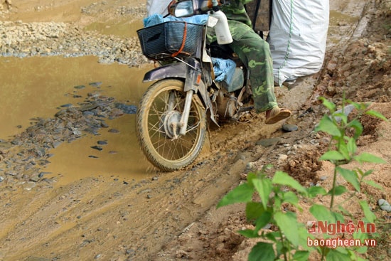
[[[234,41],[230,48],[239,56],[250,71],[250,83],[254,106],[257,112],[264,112],[277,106],[274,95],[273,62],[269,43],[244,23],[230,23]]]

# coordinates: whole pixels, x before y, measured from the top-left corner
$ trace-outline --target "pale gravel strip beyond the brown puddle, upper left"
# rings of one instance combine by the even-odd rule
[[[97,2],[83,7],[80,12],[100,17],[105,5],[105,1]],[[0,10],[0,17],[1,13]],[[119,6],[109,11],[109,15],[129,21],[140,20],[145,16],[145,5]],[[141,53],[137,37],[104,35],[71,23],[0,21],[0,56],[25,58],[51,55],[95,55],[100,63],[120,63],[130,67],[149,63]]]

